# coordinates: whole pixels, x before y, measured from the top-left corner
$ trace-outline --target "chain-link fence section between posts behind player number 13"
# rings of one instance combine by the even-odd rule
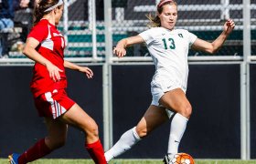
[[[155,0],[115,1],[113,33],[133,36],[147,29],[146,14],[155,14]],[[118,4],[119,3],[119,4]],[[217,56],[242,56],[242,2],[240,0],[198,0],[177,1],[178,21],[176,28],[184,28],[199,38],[212,41],[219,36],[226,19],[232,18],[237,24],[228,41],[216,54]],[[113,38],[114,45],[118,39]],[[133,46],[129,56],[148,56],[145,47]],[[189,51],[189,56],[208,56],[206,53]]]

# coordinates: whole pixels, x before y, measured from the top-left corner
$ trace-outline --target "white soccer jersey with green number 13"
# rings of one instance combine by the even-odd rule
[[[152,82],[171,79],[186,90],[188,49],[197,36],[184,29],[169,30],[164,27],[153,27],[139,36],[143,37],[155,63]]]

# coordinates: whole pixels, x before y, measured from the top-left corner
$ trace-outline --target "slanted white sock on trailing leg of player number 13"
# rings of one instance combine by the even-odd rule
[[[123,154],[123,152],[131,149],[133,145],[135,145],[138,141],[141,140],[135,128],[136,127],[131,128],[125,133],[123,133],[121,138],[114,144],[112,149],[109,149],[108,151],[105,152],[105,158],[107,162]]]

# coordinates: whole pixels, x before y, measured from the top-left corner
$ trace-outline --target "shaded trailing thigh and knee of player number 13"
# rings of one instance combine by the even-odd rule
[[[137,124],[136,131],[148,134],[168,119],[165,108],[151,105],[144,113],[144,117]]]

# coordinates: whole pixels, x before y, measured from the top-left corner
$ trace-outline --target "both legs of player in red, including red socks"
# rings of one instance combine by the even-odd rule
[[[99,140],[96,122],[77,104],[69,108],[64,115],[57,119],[45,118],[48,136],[39,140],[33,147],[27,149],[19,158],[18,163],[24,164],[40,159],[54,149],[62,147],[67,138],[68,124],[80,128],[85,134],[85,148],[96,164],[105,164],[104,151]]]

